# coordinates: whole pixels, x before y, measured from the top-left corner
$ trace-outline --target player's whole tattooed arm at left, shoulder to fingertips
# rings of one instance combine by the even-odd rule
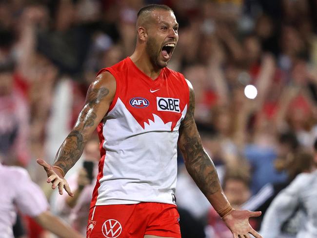
[[[63,177],[80,158],[87,140],[108,112],[115,92],[116,80],[114,77],[109,72],[101,73],[90,84],[85,104],[79,113],[74,128],[59,147],[54,165],[51,166],[42,159],[37,160],[47,173],[47,182],[53,183],[53,189],[58,186],[60,194],[65,188],[70,196],[73,195]]]

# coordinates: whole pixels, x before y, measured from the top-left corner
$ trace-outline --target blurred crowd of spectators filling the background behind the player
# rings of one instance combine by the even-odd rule
[[[68,175],[72,199],[49,192],[35,159],[53,162],[96,73],[133,53],[137,13],[149,3],[177,17],[169,67],[194,86],[198,130],[225,194],[235,208],[265,216],[317,164],[317,0],[0,0],[2,162],[27,168],[52,211],[85,234],[97,166],[83,161],[98,163],[98,141]],[[249,84],[255,99],[245,96]],[[178,157],[182,237],[230,238]],[[291,214],[280,234],[295,237],[303,217]],[[251,221],[255,229],[262,218]],[[31,221],[23,226],[32,238],[49,237]]]

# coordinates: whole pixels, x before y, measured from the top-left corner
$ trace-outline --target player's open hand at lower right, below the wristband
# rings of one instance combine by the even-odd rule
[[[249,224],[249,218],[259,217],[260,215],[261,212],[233,210],[222,219],[231,230],[234,238],[250,238],[249,234],[252,234],[255,238],[262,238]]]

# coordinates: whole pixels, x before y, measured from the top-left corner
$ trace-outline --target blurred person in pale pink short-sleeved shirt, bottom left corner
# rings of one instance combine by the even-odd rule
[[[82,238],[77,232],[53,216],[39,186],[32,182],[28,173],[18,167],[0,163],[0,234],[1,237],[13,238],[12,227],[16,220],[16,208],[29,215],[44,228],[61,238]]]

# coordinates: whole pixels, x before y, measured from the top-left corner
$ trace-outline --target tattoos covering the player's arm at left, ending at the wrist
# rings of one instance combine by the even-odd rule
[[[66,174],[80,158],[85,143],[106,113],[100,114],[100,111],[102,110],[99,109],[102,106],[101,103],[108,94],[108,88],[98,87],[94,85],[94,83],[90,85],[85,105],[79,113],[77,122],[73,130],[63,141],[54,160],[54,165],[59,166],[64,171],[64,174]],[[97,114],[100,115],[98,116]]]

